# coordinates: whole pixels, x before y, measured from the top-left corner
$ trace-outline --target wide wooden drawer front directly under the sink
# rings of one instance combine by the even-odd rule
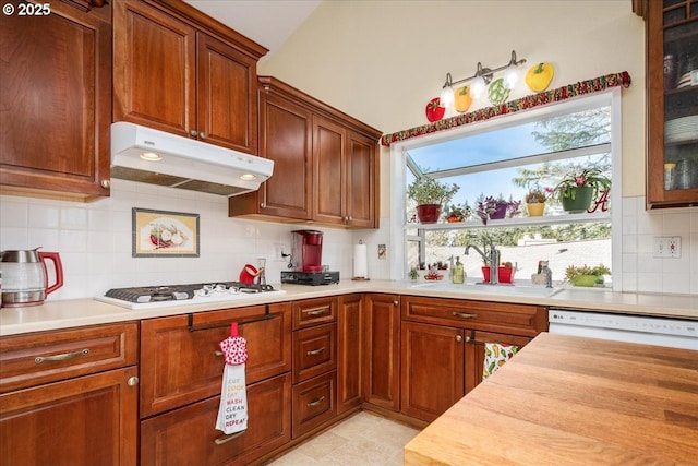
[[[507,302],[402,297],[402,319],[460,328],[535,336],[547,330],[544,307]]]

